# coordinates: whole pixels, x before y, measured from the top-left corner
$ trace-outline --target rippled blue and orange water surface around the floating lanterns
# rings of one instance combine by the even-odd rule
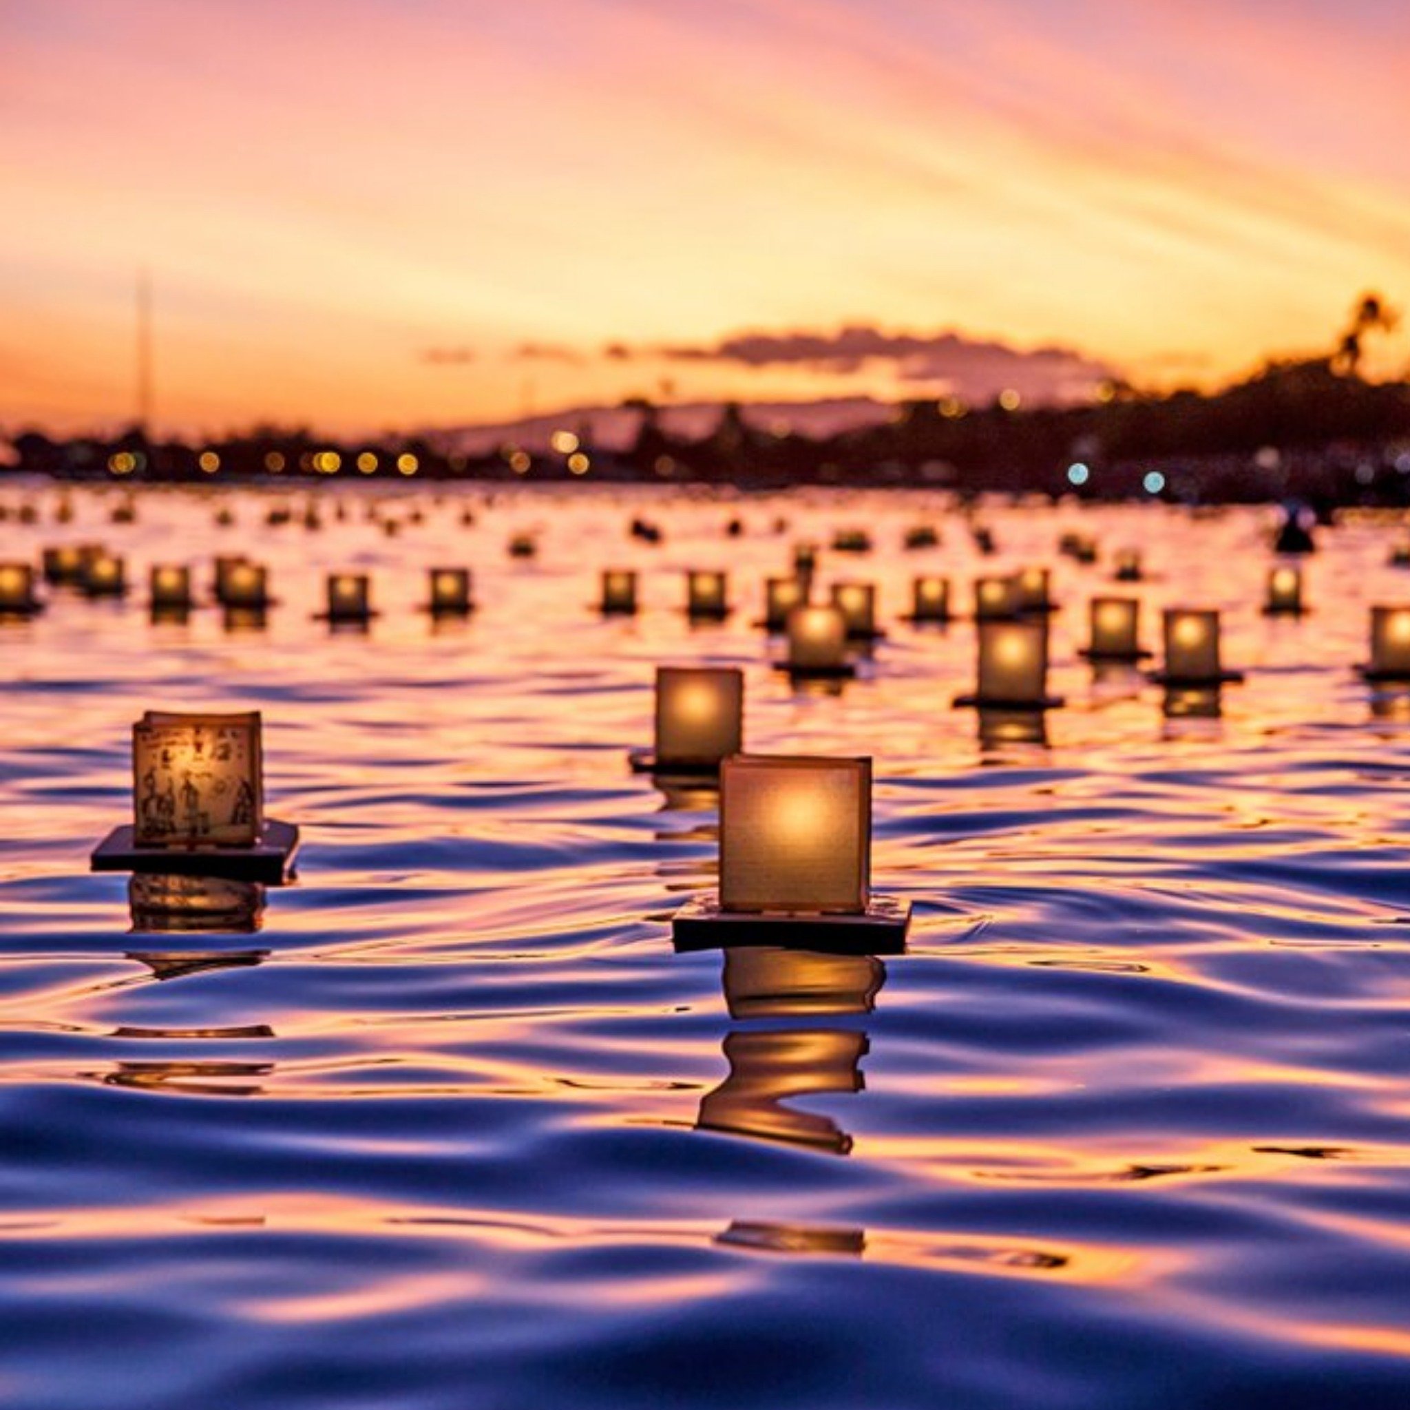
[[[1324,533],[1277,620],[1255,512],[995,508],[977,560],[938,501],[427,495],[384,501],[396,537],[347,501],[319,533],[254,494],[226,529],[179,494],[0,525],[134,577],[247,548],[282,599],[264,632],[144,591],[0,626],[0,1402],[1410,1403],[1410,740],[1348,668],[1410,599],[1387,530]],[[900,551],[926,517],[943,547]],[[887,618],[915,571],[1056,563],[1046,742],[949,708],[969,623],[893,625],[840,694],[768,668],[761,577],[850,525],[877,551],[822,580]],[[1076,527],[1145,547],[1148,644],[1165,602],[1225,609],[1218,718],[1094,681]],[[477,574],[458,627],[415,611],[441,563]],[[608,564],[636,619],[589,611]],[[681,571],[716,565],[742,609],[691,627]],[[334,567],[374,574],[367,636],[310,620]],[[876,757],[904,956],[673,953],[715,816],[627,768],[657,661],[743,666],[752,749]],[[133,719],[202,705],[265,712],[303,829],[258,929],[151,929],[87,871]]]

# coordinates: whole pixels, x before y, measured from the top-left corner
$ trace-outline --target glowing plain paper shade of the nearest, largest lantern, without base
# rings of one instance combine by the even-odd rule
[[[860,914],[870,856],[870,759],[743,754],[721,766],[722,909]]]

